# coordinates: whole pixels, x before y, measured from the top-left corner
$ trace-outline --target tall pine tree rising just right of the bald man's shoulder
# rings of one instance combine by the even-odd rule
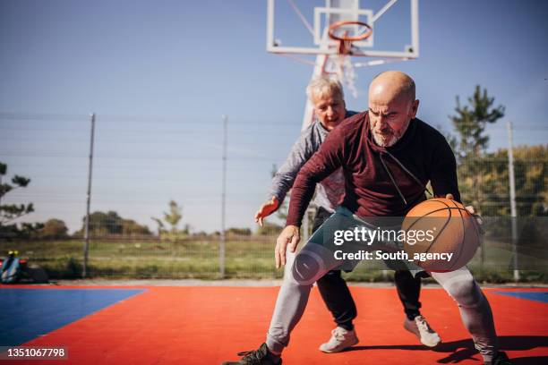
[[[489,136],[485,134],[488,123],[496,123],[504,116],[504,106],[493,107],[494,98],[490,98],[487,89],[476,85],[474,95],[468,98],[468,105],[461,106],[457,97],[456,115],[450,115],[457,139],[457,162],[459,187],[463,201],[472,204],[481,214],[491,214],[485,203],[484,185],[485,165],[481,158],[485,156],[489,145]]]

